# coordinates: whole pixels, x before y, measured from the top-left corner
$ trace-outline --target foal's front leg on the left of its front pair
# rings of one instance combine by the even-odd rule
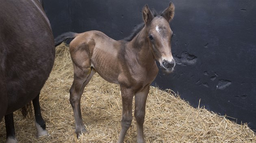
[[[133,99],[133,91],[127,88],[122,88],[121,89],[121,97],[122,97],[122,120],[121,120],[121,132],[118,137],[117,143],[124,143],[124,137],[125,134],[130,128],[131,123],[132,123],[132,99]]]

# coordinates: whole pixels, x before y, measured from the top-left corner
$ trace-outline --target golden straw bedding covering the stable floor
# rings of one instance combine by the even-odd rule
[[[76,139],[75,122],[69,103],[73,65],[68,47],[56,48],[50,77],[41,90],[40,104],[49,136],[37,138],[34,117],[22,118],[14,112],[15,131],[20,143],[115,143],[121,130],[119,86],[95,74],[81,99],[82,118],[88,133]],[[255,143],[256,134],[247,124],[235,124],[203,108],[193,108],[171,90],[150,88],[144,123],[148,143]],[[0,143],[5,139],[4,122],[0,123]],[[135,118],[125,142],[136,142]]]

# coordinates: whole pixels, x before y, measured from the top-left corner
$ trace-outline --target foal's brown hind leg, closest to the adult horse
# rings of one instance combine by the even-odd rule
[[[89,67],[87,69],[82,69],[74,64],[74,81],[69,90],[70,93],[70,104],[72,105],[74,111],[74,117],[76,122],[76,137],[78,138],[82,132],[86,132],[85,124],[82,121],[80,101],[82,93],[85,86],[91,80],[93,74],[95,74],[95,69]]]

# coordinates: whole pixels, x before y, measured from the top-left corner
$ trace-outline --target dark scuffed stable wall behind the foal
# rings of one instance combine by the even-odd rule
[[[175,71],[153,85],[256,129],[256,1],[173,0]],[[44,0],[54,36],[99,30],[115,40],[143,22],[145,4],[156,11],[168,0]]]

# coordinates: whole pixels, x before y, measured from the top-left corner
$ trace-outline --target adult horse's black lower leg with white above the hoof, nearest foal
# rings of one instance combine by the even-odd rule
[[[33,99],[33,107],[35,111],[35,126],[37,128],[37,137],[48,135],[46,130],[46,122],[43,120],[41,116],[41,108],[39,104],[39,95]]]

